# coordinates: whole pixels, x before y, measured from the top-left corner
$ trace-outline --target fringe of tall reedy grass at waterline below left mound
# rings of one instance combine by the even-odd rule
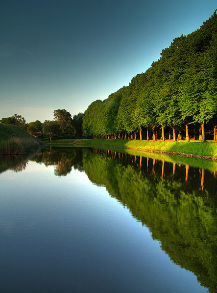
[[[36,141],[35,138],[12,136],[8,140],[0,141],[0,155],[24,154],[39,146],[40,142]]]

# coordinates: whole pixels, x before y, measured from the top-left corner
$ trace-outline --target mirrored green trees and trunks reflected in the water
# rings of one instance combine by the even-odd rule
[[[54,166],[56,176],[66,176],[72,168],[85,171],[148,227],[174,263],[215,293],[217,171],[207,170],[206,162],[192,167],[190,160],[185,165],[159,158],[77,147],[43,151],[31,160]]]

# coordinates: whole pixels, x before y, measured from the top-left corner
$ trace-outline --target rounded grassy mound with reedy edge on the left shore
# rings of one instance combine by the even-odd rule
[[[44,142],[12,124],[0,124],[0,155],[20,155],[37,150]]]

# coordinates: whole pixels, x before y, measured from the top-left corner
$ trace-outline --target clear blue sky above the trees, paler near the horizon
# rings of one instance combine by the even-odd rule
[[[216,9],[217,0],[0,0],[0,119],[84,112]]]

